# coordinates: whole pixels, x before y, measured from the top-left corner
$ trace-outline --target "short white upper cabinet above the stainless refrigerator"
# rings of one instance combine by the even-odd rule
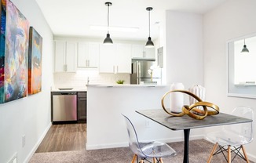
[[[134,44],[132,45],[132,58],[155,60],[155,48],[145,48],[144,45]]]

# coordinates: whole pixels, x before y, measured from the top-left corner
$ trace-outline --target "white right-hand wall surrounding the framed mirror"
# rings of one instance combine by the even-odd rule
[[[254,107],[256,111],[255,99],[227,96],[226,57],[228,40],[256,32],[255,15],[256,1],[232,0],[203,16],[206,98],[216,103],[222,112],[231,113],[239,105]],[[256,161],[256,141],[246,148],[249,158]]]

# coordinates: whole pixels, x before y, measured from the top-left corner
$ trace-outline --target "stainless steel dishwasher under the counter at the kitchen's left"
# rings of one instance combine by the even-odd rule
[[[77,121],[77,92],[52,92],[53,124]]]

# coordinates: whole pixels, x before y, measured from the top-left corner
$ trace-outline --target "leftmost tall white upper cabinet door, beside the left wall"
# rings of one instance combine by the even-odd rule
[[[66,70],[66,42],[55,41],[55,72]]]

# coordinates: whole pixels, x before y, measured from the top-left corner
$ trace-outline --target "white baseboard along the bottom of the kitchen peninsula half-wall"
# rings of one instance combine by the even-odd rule
[[[203,135],[190,136],[189,139],[203,139]],[[160,141],[163,143],[172,143],[172,142],[180,142],[184,141],[184,137],[176,137],[171,139],[154,139],[155,141]],[[147,141],[147,140],[144,140]],[[150,140],[148,140],[150,141]],[[128,140],[125,143],[104,143],[104,144],[91,144],[86,143],[86,150],[99,150],[99,149],[107,149],[107,148],[116,148],[116,147],[128,147]]]

